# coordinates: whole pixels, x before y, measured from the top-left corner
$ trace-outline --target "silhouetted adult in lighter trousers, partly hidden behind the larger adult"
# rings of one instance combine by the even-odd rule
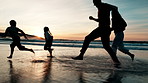
[[[124,30],[127,26],[127,23],[122,18],[118,9],[112,11],[112,29],[115,33],[115,38],[113,40],[112,49],[115,53],[117,53],[117,49],[121,52],[128,54],[132,61],[134,60],[134,54],[130,53],[127,48],[124,47],[123,39],[124,39]]]

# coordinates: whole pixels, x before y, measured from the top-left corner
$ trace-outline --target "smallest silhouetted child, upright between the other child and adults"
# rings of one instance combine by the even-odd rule
[[[53,36],[52,36],[48,27],[44,27],[44,36],[45,36],[45,41],[46,41],[46,43],[44,45],[44,50],[48,50],[50,53],[50,56],[47,56],[47,57],[53,57],[52,56],[53,49],[51,49]]]

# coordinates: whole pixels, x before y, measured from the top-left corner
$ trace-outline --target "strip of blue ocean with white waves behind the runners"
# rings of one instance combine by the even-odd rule
[[[11,43],[11,39],[0,39],[0,43],[9,44]],[[24,45],[39,45],[44,46],[45,40],[22,40],[22,44]],[[54,40],[53,46],[58,47],[78,47],[81,48],[83,45],[83,41],[77,40]],[[110,42],[112,45],[112,41]],[[129,50],[148,50],[148,41],[124,41],[124,46]],[[89,45],[89,48],[103,48],[101,41],[92,41]]]

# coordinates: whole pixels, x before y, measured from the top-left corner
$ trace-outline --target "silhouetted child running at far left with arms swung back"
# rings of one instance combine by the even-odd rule
[[[8,27],[6,29],[5,35],[4,35],[4,36],[12,37],[12,40],[13,40],[13,42],[10,44],[11,53],[10,53],[10,56],[7,57],[7,58],[12,58],[15,46],[17,46],[19,50],[31,51],[31,52],[34,53],[34,51],[32,49],[25,48],[25,46],[21,45],[20,37],[19,37],[19,33],[18,32],[21,32],[23,34],[23,36],[28,40],[28,38],[25,35],[25,33],[21,29],[16,27],[16,21],[15,20],[11,20],[10,21],[10,27]]]

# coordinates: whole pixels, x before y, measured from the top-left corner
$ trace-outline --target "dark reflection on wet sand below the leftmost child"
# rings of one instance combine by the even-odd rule
[[[15,74],[14,68],[13,68],[13,62],[11,60],[8,60],[10,69],[9,69],[9,74],[10,74],[10,83],[19,83],[18,79],[19,77]]]

